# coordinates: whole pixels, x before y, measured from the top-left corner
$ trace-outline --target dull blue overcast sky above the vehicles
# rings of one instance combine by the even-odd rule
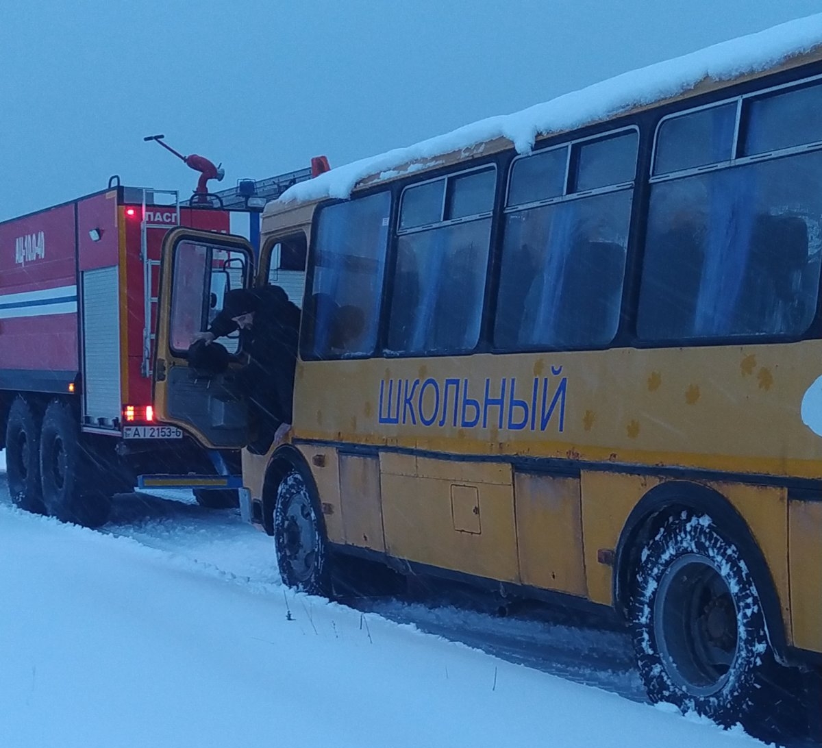
[[[0,0],[0,220],[117,173],[332,167],[724,39],[822,0]]]

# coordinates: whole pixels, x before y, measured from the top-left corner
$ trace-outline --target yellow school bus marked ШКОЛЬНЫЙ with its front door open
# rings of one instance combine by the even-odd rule
[[[253,271],[169,235],[155,401],[209,446],[249,440],[229,375],[187,367],[214,257],[305,262],[292,428],[242,458],[286,584],[328,593],[348,553],[612,607],[650,697],[725,722],[774,661],[818,667],[822,46],[735,69],[623,76],[604,114],[377,159],[347,196],[332,170],[266,208]]]

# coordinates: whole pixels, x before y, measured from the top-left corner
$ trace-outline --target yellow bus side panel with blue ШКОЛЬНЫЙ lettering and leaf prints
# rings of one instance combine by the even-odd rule
[[[820,361],[822,343],[807,340],[299,362],[294,427],[455,455],[819,479],[822,440],[801,408]]]

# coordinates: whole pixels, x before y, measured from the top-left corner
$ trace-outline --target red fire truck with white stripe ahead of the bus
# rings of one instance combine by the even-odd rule
[[[175,226],[229,233],[231,210],[248,210],[255,192],[244,182],[181,204],[177,192],[113,177],[101,192],[0,223],[0,447],[17,506],[95,526],[110,497],[135,486],[192,487],[205,506],[236,501],[238,453],[157,422],[151,382],[163,238]],[[212,273],[216,310],[247,270],[213,262],[226,265]]]

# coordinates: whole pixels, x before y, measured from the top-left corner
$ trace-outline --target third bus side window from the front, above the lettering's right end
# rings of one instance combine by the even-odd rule
[[[534,157],[512,164],[496,348],[598,348],[616,335],[633,198],[626,182],[634,178],[638,140],[630,131],[575,144],[575,182],[603,192],[548,205],[512,203],[529,197],[517,182],[520,175],[533,180],[534,170],[518,164]]]

